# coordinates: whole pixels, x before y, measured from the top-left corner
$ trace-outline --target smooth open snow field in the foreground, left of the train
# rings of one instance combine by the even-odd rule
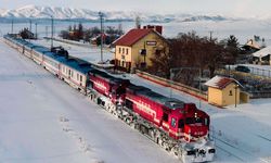
[[[1,163],[179,162],[0,41]]]

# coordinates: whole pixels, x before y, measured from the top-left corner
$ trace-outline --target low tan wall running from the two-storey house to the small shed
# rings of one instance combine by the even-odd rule
[[[206,92],[201,92],[201,90],[198,90],[196,88],[193,88],[193,87],[190,87],[190,86],[177,83],[177,82],[172,82],[172,80],[169,80],[169,79],[166,79],[166,78],[162,78],[162,77],[158,77],[158,76],[155,76],[155,75],[151,75],[149,73],[141,72],[141,71],[138,71],[138,70],[136,71],[136,74],[138,76],[142,77],[142,78],[154,82],[154,83],[159,84],[162,86],[170,87],[172,89],[186,92],[186,93],[189,93],[191,96],[194,96],[194,97],[196,97],[198,99],[202,99],[202,100],[205,100],[205,101],[208,100],[207,93]]]

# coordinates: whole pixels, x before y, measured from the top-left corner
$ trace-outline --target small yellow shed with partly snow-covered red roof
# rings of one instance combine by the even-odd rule
[[[234,78],[215,76],[205,85],[208,87],[208,102],[211,104],[227,106],[240,104],[241,99],[245,99],[243,98],[245,93],[241,93],[241,87],[243,86]]]

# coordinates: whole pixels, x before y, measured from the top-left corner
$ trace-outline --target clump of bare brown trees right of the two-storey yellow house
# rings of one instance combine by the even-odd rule
[[[149,73],[170,78],[170,68],[179,68],[173,79],[186,85],[193,85],[199,73],[207,72],[208,77],[215,76],[215,71],[227,64],[234,64],[240,53],[238,40],[231,35],[220,40],[201,37],[195,32],[179,34],[168,39],[169,51],[156,52],[151,59]],[[172,77],[172,76],[171,76]]]

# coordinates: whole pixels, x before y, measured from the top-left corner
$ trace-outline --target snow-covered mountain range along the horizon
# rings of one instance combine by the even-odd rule
[[[192,15],[192,14],[150,14],[138,12],[103,12],[106,21],[133,21],[138,15],[144,22],[196,22],[196,21],[227,21],[229,18],[221,15]],[[0,10],[0,17],[7,18],[51,18],[55,20],[90,20],[99,21],[99,12],[86,9],[54,8],[26,5],[15,10]]]

